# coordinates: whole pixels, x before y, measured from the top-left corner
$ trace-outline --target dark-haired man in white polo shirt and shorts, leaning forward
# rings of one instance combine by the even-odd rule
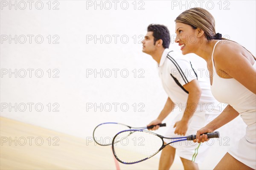
[[[145,35],[143,52],[157,62],[159,76],[168,99],[157,119],[149,125],[157,125],[179,107],[181,113],[174,119],[165,136],[187,136],[195,134],[199,127],[214,119],[220,113],[218,102],[211,94],[209,84],[199,77],[186,57],[170,51],[170,34],[166,26],[149,25]],[[211,105],[212,107],[208,107]],[[209,109],[208,109],[209,108]],[[159,126],[151,130],[157,130]],[[165,143],[171,140],[166,139]],[[198,169],[198,162],[204,158],[207,144],[177,142],[166,146],[160,157],[159,169],[169,169],[175,153],[180,156],[184,169]]]

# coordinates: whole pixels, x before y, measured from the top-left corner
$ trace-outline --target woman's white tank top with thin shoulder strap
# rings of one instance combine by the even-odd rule
[[[247,125],[252,125],[256,121],[256,95],[236,79],[224,79],[218,76],[213,61],[213,53],[218,42],[216,42],[212,51],[212,95],[219,102],[231,105],[241,114],[241,118]],[[253,67],[256,69],[256,62],[254,62]],[[239,68],[237,71],[239,71]]]

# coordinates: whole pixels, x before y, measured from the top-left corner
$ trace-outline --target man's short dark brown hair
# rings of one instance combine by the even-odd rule
[[[166,26],[158,24],[150,24],[148,26],[148,32],[152,31],[154,36],[154,45],[157,40],[163,40],[163,48],[169,48],[171,37],[169,30]]]

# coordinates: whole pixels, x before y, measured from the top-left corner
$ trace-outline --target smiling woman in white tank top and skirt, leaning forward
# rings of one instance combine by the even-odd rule
[[[246,135],[215,169],[256,169],[255,57],[238,43],[216,34],[215,20],[203,8],[184,11],[175,22],[175,42],[180,45],[182,54],[194,53],[205,59],[213,96],[229,104],[216,119],[197,131],[195,142],[207,141],[203,133],[218,129],[240,114],[247,125]]]

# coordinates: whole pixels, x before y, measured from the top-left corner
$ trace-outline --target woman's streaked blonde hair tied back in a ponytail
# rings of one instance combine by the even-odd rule
[[[210,14],[207,10],[203,8],[191,8],[184,11],[176,18],[175,22],[190,25],[192,26],[193,29],[196,29],[196,28],[202,29],[204,31],[204,35],[207,38],[208,42],[210,40],[228,40],[226,38],[222,38],[221,34],[219,33],[216,34],[214,17],[212,16],[212,14]],[[232,41],[232,40],[229,40],[229,41]],[[250,54],[252,53],[250,52]],[[254,57],[254,59],[256,58]]]

